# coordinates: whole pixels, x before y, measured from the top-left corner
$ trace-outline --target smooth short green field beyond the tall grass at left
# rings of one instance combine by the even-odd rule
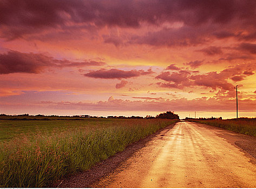
[[[63,118],[63,117],[49,117],[51,120],[41,120],[43,118],[36,118],[38,120],[8,120],[10,118],[28,118],[29,117],[10,117],[1,116],[0,120],[0,143],[1,141],[13,139],[20,134],[35,136],[38,132],[48,135],[50,133],[63,132],[73,129],[95,130],[102,129],[113,125],[113,119],[99,119],[99,118]],[[31,117],[30,117],[31,119]],[[57,120],[60,119],[60,120]],[[65,120],[67,119],[67,120]]]

